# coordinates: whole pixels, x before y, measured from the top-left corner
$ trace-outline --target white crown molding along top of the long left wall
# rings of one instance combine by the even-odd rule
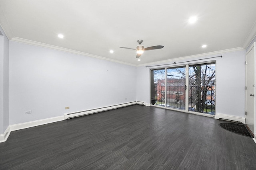
[[[49,44],[45,44],[45,43],[40,43],[40,42],[37,42],[37,41],[32,41],[32,40],[18,38],[18,37],[13,37],[12,39],[10,39],[10,41],[15,41],[15,42],[18,42],[18,43],[25,43],[25,44],[28,44],[28,45],[35,45],[35,46],[38,46],[38,47],[44,47],[44,48],[49,48],[49,49],[55,49],[55,50],[58,50],[58,51],[65,51],[65,52],[76,54],[76,55],[83,55],[83,56],[86,56],[86,57],[102,59],[102,60],[111,61],[111,62],[114,62],[114,63],[136,66],[135,64],[131,64],[131,63],[117,61],[117,60],[114,60],[114,59],[109,59],[109,58],[101,57],[101,56],[98,56],[98,55],[88,54],[88,53],[84,53],[84,52],[80,52],[80,51],[76,51],[76,50],[66,49],[66,48],[63,48],[63,47],[58,47],[58,46],[49,45]]]

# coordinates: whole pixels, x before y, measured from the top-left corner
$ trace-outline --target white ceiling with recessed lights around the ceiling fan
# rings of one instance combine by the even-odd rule
[[[255,7],[256,0],[0,0],[0,24],[13,41],[141,65],[246,48],[256,35]],[[137,61],[136,51],[119,47],[136,48],[138,39],[164,48]]]

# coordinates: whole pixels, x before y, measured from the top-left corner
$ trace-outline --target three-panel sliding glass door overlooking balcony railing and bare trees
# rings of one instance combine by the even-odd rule
[[[215,114],[215,63],[151,70],[151,104]]]

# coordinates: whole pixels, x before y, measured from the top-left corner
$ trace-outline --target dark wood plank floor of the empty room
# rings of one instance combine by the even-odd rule
[[[252,138],[221,120],[140,105],[11,132],[1,170],[256,169]]]

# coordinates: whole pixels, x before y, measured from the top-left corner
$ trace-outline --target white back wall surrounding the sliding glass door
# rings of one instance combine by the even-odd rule
[[[209,57],[220,56],[220,58],[205,59]],[[245,114],[245,50],[224,54],[209,55],[198,58],[190,58],[183,60],[173,60],[164,63],[148,64],[169,64],[196,59],[204,59],[202,61],[216,60],[216,113],[244,117]],[[193,63],[193,62],[188,62]],[[184,63],[184,64],[188,64]],[[195,63],[195,62],[194,62]],[[175,66],[172,64],[171,66]],[[158,66],[160,68],[161,66]],[[163,67],[163,66],[162,66]],[[150,68],[140,66],[137,68],[137,100],[150,103]]]

